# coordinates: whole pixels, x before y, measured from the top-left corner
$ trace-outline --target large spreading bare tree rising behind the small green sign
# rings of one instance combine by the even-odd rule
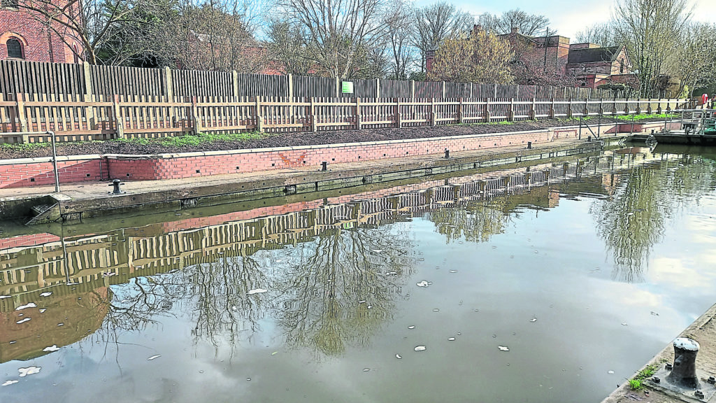
[[[354,77],[379,36],[379,0],[279,0],[289,20],[301,27],[307,57],[326,75]]]

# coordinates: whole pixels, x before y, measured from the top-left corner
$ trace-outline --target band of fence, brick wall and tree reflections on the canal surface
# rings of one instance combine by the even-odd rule
[[[117,342],[167,316],[188,318],[194,343],[217,349],[251,341],[270,320],[287,346],[317,360],[339,355],[369,345],[407,298],[412,219],[425,217],[447,243],[488,242],[523,209],[551,209],[561,197],[596,198],[612,277],[642,281],[679,205],[715,189],[714,169],[639,149],[98,234],[7,238],[0,362],[90,333]],[[16,310],[28,303],[38,306]]]

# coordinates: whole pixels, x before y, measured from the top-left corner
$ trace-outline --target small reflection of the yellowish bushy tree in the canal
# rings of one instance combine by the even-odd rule
[[[427,214],[438,233],[447,242],[465,237],[472,242],[485,242],[494,234],[505,231],[509,215],[505,212],[507,196],[490,200],[472,201],[466,207],[442,207]]]

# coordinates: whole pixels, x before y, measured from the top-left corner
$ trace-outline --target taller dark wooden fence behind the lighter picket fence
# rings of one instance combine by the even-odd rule
[[[609,90],[473,82],[350,80],[342,93],[337,78],[233,72],[148,69],[0,60],[0,94],[129,97],[324,97],[324,98],[611,98]]]

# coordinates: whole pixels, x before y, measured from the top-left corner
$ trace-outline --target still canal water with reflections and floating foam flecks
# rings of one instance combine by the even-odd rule
[[[624,148],[4,224],[0,401],[599,402],[716,303],[715,171]]]

